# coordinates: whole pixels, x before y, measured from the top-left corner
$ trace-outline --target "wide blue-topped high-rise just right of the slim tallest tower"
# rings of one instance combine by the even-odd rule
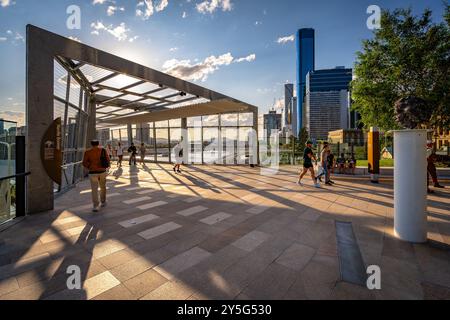
[[[327,140],[328,133],[349,128],[352,69],[316,70],[306,77],[305,127],[312,139]]]

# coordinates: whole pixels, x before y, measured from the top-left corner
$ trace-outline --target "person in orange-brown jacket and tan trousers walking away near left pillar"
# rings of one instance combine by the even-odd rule
[[[99,205],[106,206],[106,177],[110,161],[108,152],[99,147],[97,140],[91,142],[92,148],[84,153],[83,167],[89,170],[89,180],[92,189],[93,212],[98,212]],[[100,201],[98,199],[98,188],[100,187]]]

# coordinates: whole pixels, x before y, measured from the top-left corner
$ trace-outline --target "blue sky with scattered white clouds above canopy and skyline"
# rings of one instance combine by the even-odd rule
[[[0,118],[23,124],[25,29],[33,24],[260,108],[295,83],[299,28],[316,30],[316,69],[353,67],[373,36],[367,8],[433,10],[442,0],[0,0]],[[69,29],[71,5],[80,29]],[[72,11],[70,12],[72,13]]]

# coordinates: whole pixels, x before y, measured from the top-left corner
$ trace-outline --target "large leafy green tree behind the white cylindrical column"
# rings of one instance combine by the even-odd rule
[[[445,22],[433,23],[432,12],[420,17],[411,9],[383,11],[381,29],[363,41],[352,81],[353,109],[366,126],[397,129],[395,103],[422,99],[425,127],[450,128],[450,5]]]

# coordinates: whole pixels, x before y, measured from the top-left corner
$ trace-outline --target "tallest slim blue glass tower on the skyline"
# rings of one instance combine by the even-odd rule
[[[315,31],[314,29],[300,29],[296,37],[297,45],[297,110],[296,123],[292,130],[298,136],[303,121],[303,102],[306,94],[306,75],[315,70]]]

